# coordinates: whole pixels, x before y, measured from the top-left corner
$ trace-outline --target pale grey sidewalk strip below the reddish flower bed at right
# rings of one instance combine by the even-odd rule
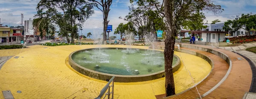
[[[246,48],[249,48],[249,47],[256,47],[256,43],[246,43],[246,44],[241,44],[235,47],[217,47],[217,48],[229,50],[229,51],[237,51],[237,50],[245,50]]]

